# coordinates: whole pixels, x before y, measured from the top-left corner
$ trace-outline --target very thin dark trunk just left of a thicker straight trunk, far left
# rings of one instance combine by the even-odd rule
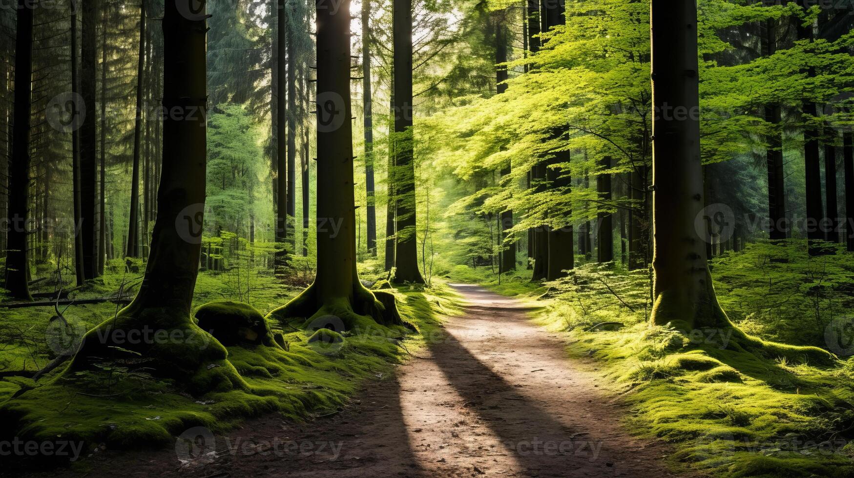
[[[71,91],[74,98],[79,98],[80,79],[78,67],[79,47],[77,44],[77,13],[76,2],[71,0]],[[75,107],[77,105],[75,104]],[[75,108],[76,113],[76,108]],[[79,125],[78,125],[79,126]],[[72,176],[72,202],[74,214],[74,274],[77,285],[86,282],[83,269],[83,235],[80,234],[81,224],[81,197],[80,197],[80,131],[79,127],[71,130],[71,176]]]

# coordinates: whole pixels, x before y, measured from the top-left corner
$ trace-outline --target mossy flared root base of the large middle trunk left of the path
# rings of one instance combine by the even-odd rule
[[[371,291],[358,282],[354,285],[352,300],[344,296],[320,300],[312,284],[293,300],[267,314],[267,318],[280,323],[287,323],[289,319],[304,319],[304,327],[307,329],[348,330],[355,334],[377,329],[377,324],[389,328],[413,329],[401,318],[395,294],[384,290]]]

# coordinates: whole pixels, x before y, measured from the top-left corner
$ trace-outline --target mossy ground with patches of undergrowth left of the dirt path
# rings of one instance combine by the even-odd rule
[[[259,276],[256,281],[249,303],[262,312],[298,291],[284,289],[273,277]],[[108,276],[85,295],[116,290],[120,282],[119,278]],[[6,377],[0,381],[3,436],[82,440],[87,454],[100,444],[111,448],[163,446],[187,428],[204,426],[217,433],[245,417],[263,413],[277,412],[304,420],[336,411],[347,405],[348,396],[362,381],[387,374],[392,364],[420,347],[424,337],[441,324],[443,315],[459,310],[455,294],[442,283],[432,289],[391,292],[398,299],[401,315],[418,329],[418,334],[401,338],[396,331],[377,326],[368,334],[345,333],[345,340],[330,350],[307,343],[313,331],[281,330],[284,347],[227,347],[227,361],[220,366],[233,367],[245,382],[243,388],[191,396],[175,382],[155,378],[132,361],[98,364],[96,370],[65,376],[61,376],[61,367],[38,384],[26,378]],[[230,294],[221,274],[200,274],[195,305],[224,298],[245,300],[247,294]],[[115,306],[73,309],[73,313],[67,312],[69,321],[91,328],[113,314]],[[26,340],[10,341],[14,347],[0,352],[6,370],[32,372],[50,359],[44,329],[52,312],[41,307],[0,311],[0,324],[15,329],[27,327]],[[274,330],[280,327],[270,325]]]

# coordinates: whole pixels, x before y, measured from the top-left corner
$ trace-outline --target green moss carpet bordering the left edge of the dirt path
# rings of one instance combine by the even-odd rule
[[[456,294],[442,283],[434,289],[389,293],[420,334],[404,336],[403,329],[372,323],[373,333],[346,336],[345,347],[332,355],[308,342],[316,331],[284,333],[288,350],[246,342],[222,347],[211,341],[223,358],[186,370],[190,389],[205,390],[198,395],[186,393],[182,381],[152,375],[132,361],[105,361],[104,368],[65,374],[57,371],[15,399],[6,398],[31,383],[0,382],[5,399],[0,406],[3,433],[26,440],[83,440],[88,452],[101,443],[110,448],[168,445],[187,428],[204,426],[218,433],[264,413],[303,420],[336,410],[347,406],[348,396],[361,381],[387,373],[408,356],[407,350],[429,340],[443,315],[459,310]],[[242,304],[217,303],[201,309],[232,316],[256,313]],[[325,334],[342,337],[332,331]]]

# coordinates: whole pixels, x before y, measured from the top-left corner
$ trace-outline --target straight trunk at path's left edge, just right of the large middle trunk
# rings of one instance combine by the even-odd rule
[[[395,58],[395,283],[424,283],[418,271],[414,134],[412,131],[412,0],[392,0]]]

